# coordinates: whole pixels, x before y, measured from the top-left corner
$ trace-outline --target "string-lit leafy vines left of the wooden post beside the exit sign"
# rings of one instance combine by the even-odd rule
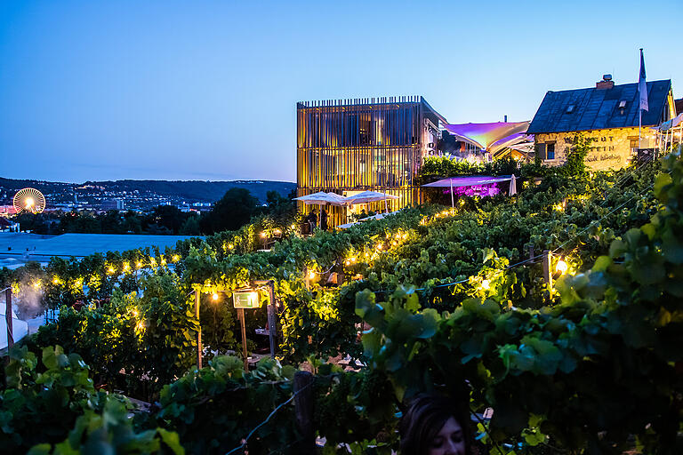
[[[115,291],[100,308],[62,307],[57,322],[40,327],[25,343],[36,350],[59,342],[93,365],[98,383],[153,398],[196,363],[197,319],[187,289],[173,275],[141,282],[143,297]]]

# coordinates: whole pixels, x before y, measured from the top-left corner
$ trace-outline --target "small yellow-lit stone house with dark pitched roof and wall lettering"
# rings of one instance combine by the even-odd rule
[[[591,138],[586,165],[594,171],[619,169],[638,149],[655,148],[649,129],[676,116],[671,80],[647,83],[648,111],[642,112],[639,146],[638,84],[615,85],[611,75],[593,88],[547,92],[527,133],[544,164],[566,161],[578,133]]]

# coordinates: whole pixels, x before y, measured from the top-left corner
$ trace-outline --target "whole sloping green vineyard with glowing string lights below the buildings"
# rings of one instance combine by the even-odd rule
[[[470,172],[447,165],[426,173]],[[10,353],[0,446],[299,453],[305,368],[324,454],[398,450],[400,413],[424,391],[466,403],[479,453],[683,453],[683,161],[520,171],[517,196],[343,231],[261,217],[166,251],[5,270],[19,299],[39,291],[59,311]],[[232,294],[265,302],[254,283],[270,280],[276,359],[245,371]],[[245,311],[253,352],[267,311]]]

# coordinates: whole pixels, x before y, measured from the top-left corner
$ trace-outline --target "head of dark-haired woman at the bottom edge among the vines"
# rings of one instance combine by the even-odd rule
[[[418,395],[401,419],[401,455],[470,455],[469,417],[439,395]]]

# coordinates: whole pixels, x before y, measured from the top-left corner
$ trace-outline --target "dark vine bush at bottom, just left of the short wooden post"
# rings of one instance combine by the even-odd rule
[[[294,369],[263,359],[245,373],[242,360],[218,356],[209,366],[164,387],[156,419],[172,428],[192,453],[225,453],[292,395]],[[285,406],[247,443],[249,453],[269,453],[294,440],[293,405]]]

